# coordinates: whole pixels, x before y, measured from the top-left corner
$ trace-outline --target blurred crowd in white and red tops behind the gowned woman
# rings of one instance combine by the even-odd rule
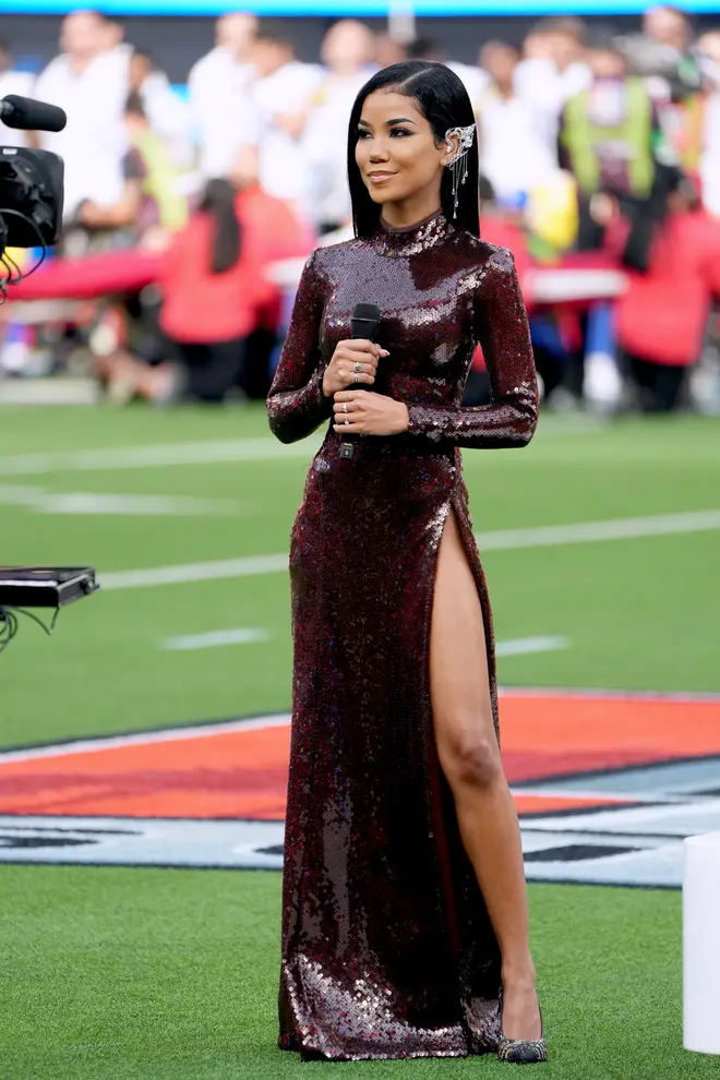
[[[621,310],[538,313],[545,393],[616,407],[632,384],[635,405],[664,409],[693,385],[697,398],[701,385],[707,404],[720,293],[720,29],[698,34],[667,5],[649,9],[633,35],[548,17],[517,47],[483,40],[481,19],[477,28],[477,63],[463,64],[432,40],[398,41],[341,20],[308,63],[290,22],[231,13],[181,88],[124,40],[119,22],[94,11],[64,19],[60,53],[37,76],[16,71],[10,45],[0,45],[0,96],[33,96],[68,113],[60,133],[2,131],[5,145],[26,140],[64,159],[62,252],[165,253],[149,302],[145,290],[142,303],[125,298],[121,315],[115,303],[97,316],[93,340],[112,344],[91,340],[96,367],[116,382],[124,372],[132,393],[167,399],[178,393],[180,358],[194,396],[262,396],[284,319],[265,267],[348,233],[352,101],[379,67],[417,57],[453,68],[473,104],[487,239],[512,247],[520,269],[599,253],[629,275]],[[228,236],[230,255],[219,251]],[[261,280],[254,291],[248,284]],[[190,314],[199,281],[200,319]],[[228,317],[238,289],[247,302]],[[152,347],[130,343],[129,325]],[[7,324],[8,343],[16,334]],[[693,384],[689,369],[701,360],[705,382]],[[480,400],[481,357],[475,372]]]

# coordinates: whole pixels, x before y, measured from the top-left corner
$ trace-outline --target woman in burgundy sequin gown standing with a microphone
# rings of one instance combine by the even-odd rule
[[[513,256],[478,238],[477,143],[458,158],[472,119],[442,64],[360,93],[357,238],[305,264],[267,400],[283,442],[327,423],[290,537],[278,1045],[303,1060],[544,1053],[460,457],[525,445],[537,383]],[[358,302],[380,309],[382,351],[348,341]],[[477,343],[492,403],[464,408]]]

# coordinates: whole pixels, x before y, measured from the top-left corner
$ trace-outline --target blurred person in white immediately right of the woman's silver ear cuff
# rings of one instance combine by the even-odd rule
[[[556,157],[538,134],[533,109],[515,91],[518,50],[489,41],[480,56],[490,79],[478,110],[480,171],[499,201],[520,203],[557,172]]]

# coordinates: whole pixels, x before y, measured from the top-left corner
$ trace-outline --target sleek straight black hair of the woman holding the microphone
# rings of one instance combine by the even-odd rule
[[[388,68],[375,72],[355,99],[348,132],[348,183],[352,202],[352,224],[357,237],[371,237],[376,232],[381,215],[381,206],[370,197],[355,159],[358,121],[368,95],[373,91],[389,89],[389,87],[398,94],[412,98],[420,113],[430,123],[436,146],[445,141],[445,132],[448,128],[467,128],[475,123],[472,105],[463,81],[444,63],[431,60],[404,60],[401,63],[392,63]],[[448,168],[443,176],[440,197],[445,217],[453,221],[457,229],[465,229],[479,237],[477,133],[472,146],[460,163],[461,173],[465,172],[466,165],[468,178],[459,187],[455,220],[453,220],[453,177]]]

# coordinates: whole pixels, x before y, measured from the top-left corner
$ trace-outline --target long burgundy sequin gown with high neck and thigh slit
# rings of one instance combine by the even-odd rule
[[[338,456],[322,376],[356,303],[382,312],[374,389],[408,432]],[[460,405],[476,343],[492,404]],[[279,1040],[303,1060],[464,1057],[497,1046],[500,953],[432,728],[430,622],[454,509],[488,590],[461,447],[519,447],[537,382],[511,252],[436,214],[315,251],[267,399],[285,443],[328,430],[290,537],[295,644]]]

